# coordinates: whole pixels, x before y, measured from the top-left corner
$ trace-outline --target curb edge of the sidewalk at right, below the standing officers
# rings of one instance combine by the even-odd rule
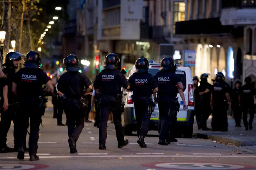
[[[210,134],[204,134],[204,133],[194,133],[193,136],[198,138],[203,138],[203,139],[218,140],[220,142],[223,142],[226,145],[231,144],[238,147],[256,145],[256,141],[243,140],[243,139],[239,140],[239,139],[233,139],[232,137],[222,137],[218,135],[210,135]]]

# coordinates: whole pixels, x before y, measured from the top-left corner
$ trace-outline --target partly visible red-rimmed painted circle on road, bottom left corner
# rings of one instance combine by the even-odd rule
[[[48,168],[48,165],[40,165],[40,164],[0,164],[0,170],[37,170]]]

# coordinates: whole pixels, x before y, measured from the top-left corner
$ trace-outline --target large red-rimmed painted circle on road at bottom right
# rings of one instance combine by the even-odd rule
[[[256,168],[245,165],[234,165],[225,163],[201,163],[201,162],[172,162],[172,163],[150,163],[142,164],[142,166],[150,168],[165,168],[165,169],[191,169],[191,170],[232,170],[232,169],[247,169]]]

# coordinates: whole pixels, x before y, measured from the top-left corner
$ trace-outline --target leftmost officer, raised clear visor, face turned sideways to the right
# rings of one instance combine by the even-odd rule
[[[15,75],[15,69],[18,68],[18,63],[22,60],[23,54],[18,52],[9,52],[5,57],[5,63],[1,64],[5,66],[3,72],[5,77],[1,79],[1,122],[0,122],[0,153],[7,153],[18,151],[19,149],[19,134],[17,129],[17,117],[16,117],[16,106],[17,97],[12,92],[12,81]],[[10,106],[9,106],[10,104]],[[13,106],[11,106],[13,105]],[[13,120],[14,130],[14,150],[12,148],[7,147],[7,133],[10,129],[11,122]]]

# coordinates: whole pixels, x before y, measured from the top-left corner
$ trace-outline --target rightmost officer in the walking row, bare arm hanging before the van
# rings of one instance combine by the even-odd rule
[[[168,145],[171,142],[177,142],[174,138],[175,124],[177,121],[177,112],[174,108],[174,100],[179,92],[183,101],[183,109],[187,108],[183,84],[178,78],[176,72],[177,66],[171,57],[165,57],[161,60],[159,72],[156,73],[155,79],[158,82],[158,98],[154,95],[154,100],[158,101],[159,107],[159,145]],[[174,115],[172,113],[175,113]],[[169,136],[169,122],[170,136]]]

